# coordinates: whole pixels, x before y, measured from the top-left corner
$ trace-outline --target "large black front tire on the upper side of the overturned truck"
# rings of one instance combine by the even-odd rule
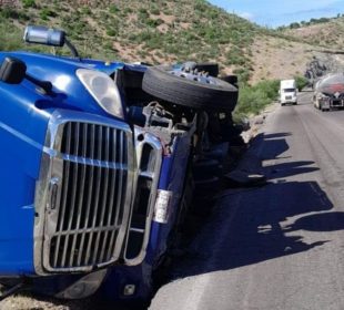
[[[215,84],[201,83],[173,75],[169,66],[148,68],[142,89],[166,102],[206,111],[232,112],[237,102],[237,89],[217,78]]]

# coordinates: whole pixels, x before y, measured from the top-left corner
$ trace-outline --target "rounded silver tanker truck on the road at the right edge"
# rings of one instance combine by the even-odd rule
[[[313,105],[321,111],[344,106],[343,73],[330,73],[315,83]]]

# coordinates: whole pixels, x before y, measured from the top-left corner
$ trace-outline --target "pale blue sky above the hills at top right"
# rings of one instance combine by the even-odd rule
[[[210,0],[210,2],[230,13],[234,12],[271,28],[344,13],[344,0]]]

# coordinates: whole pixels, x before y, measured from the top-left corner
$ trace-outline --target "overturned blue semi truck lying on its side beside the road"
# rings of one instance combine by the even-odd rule
[[[82,59],[54,29],[24,40],[72,56],[0,53],[0,300],[148,300],[237,87],[209,64]]]

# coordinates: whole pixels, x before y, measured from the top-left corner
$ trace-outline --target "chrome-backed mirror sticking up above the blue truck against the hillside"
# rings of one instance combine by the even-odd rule
[[[28,25],[23,40],[28,43],[61,48],[65,42],[65,32],[41,25]]]

